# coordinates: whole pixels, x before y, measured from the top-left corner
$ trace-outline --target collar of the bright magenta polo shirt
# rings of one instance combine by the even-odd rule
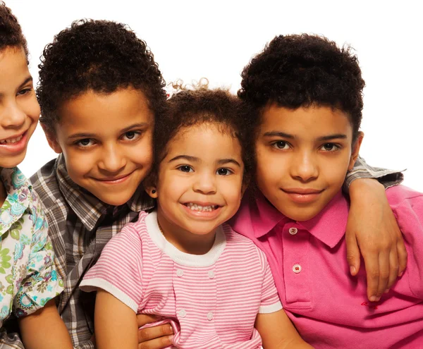
[[[242,207],[240,213],[245,216],[245,209],[247,209],[255,238],[261,238],[266,235],[278,224],[285,225],[293,222],[293,220],[281,214],[276,207],[267,201],[261,192],[250,196],[248,201],[248,207]],[[304,227],[315,238],[321,240],[322,243],[329,247],[334,247],[345,234],[348,210],[348,201],[343,197],[340,190],[317,216],[308,221],[297,222],[297,224]],[[245,227],[240,227],[240,229],[243,228]]]

